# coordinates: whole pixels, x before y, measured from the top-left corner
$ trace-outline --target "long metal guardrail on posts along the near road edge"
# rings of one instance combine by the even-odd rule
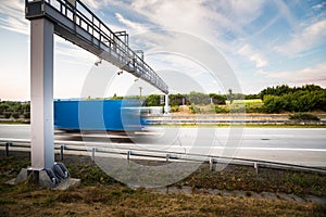
[[[163,159],[166,162],[175,161],[175,162],[208,162],[210,163],[210,168],[213,170],[214,164],[230,164],[230,165],[243,165],[243,166],[253,166],[259,173],[260,167],[264,168],[276,168],[276,169],[290,169],[290,170],[299,170],[299,171],[315,171],[326,174],[326,168],[322,167],[311,167],[311,166],[302,166],[294,164],[286,164],[286,163],[277,163],[277,162],[268,162],[268,161],[260,161],[260,159],[248,159],[248,158],[238,158],[238,157],[225,157],[225,156],[211,156],[211,155],[201,155],[201,154],[189,154],[189,153],[178,153],[178,152],[164,152],[158,150],[140,150],[140,149],[127,149],[127,148],[100,148],[100,146],[86,146],[77,145],[83,144],[80,142],[75,141],[55,141],[54,149],[60,151],[60,159],[62,161],[64,157],[64,151],[72,152],[89,152],[91,156],[91,161],[96,159],[96,153],[102,154],[112,154],[113,155],[125,155],[126,159],[131,159],[133,156],[137,156],[138,158],[143,159]],[[10,149],[18,149],[25,148],[21,151],[27,151],[30,148],[30,140],[26,139],[9,139],[2,138],[0,139],[0,145],[5,146],[5,155],[10,155]],[[18,151],[18,150],[14,150]]]

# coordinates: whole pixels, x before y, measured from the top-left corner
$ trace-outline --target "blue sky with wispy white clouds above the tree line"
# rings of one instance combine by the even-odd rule
[[[52,0],[55,1],[55,0]],[[29,21],[24,0],[0,0],[0,99],[30,99]],[[326,88],[326,1],[83,0],[171,92],[259,93],[277,85]],[[54,98],[160,93],[54,37]],[[88,86],[92,88],[88,88]],[[103,87],[98,88],[101,85]],[[97,89],[98,88],[98,89]],[[101,89],[101,91],[99,91]]]

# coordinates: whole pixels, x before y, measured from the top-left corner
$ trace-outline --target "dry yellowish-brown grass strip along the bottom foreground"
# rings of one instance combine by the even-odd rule
[[[125,187],[80,187],[62,192],[15,194],[1,216],[322,216],[313,204],[211,195],[159,194]],[[68,200],[67,200],[68,199]],[[17,208],[20,207],[20,208]]]

